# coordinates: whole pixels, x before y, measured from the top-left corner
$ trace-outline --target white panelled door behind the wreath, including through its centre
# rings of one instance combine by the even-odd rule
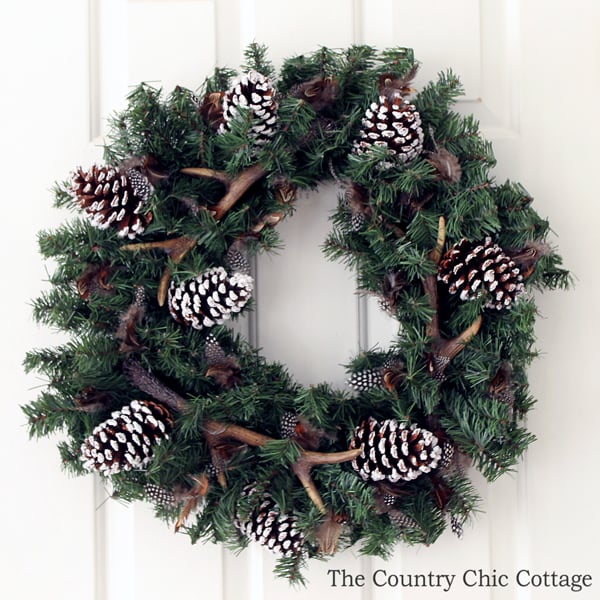
[[[3,3],[0,28],[0,580],[7,598],[408,597],[399,588],[334,588],[332,568],[367,579],[377,568],[457,579],[479,568],[591,573],[594,587],[578,597],[597,597],[597,2],[578,0],[567,10],[559,0],[30,0]],[[448,534],[432,548],[399,548],[389,563],[348,552],[313,565],[310,586],[301,591],[273,581],[272,559],[262,550],[234,557],[216,546],[190,547],[146,507],[105,503],[93,478],[61,473],[52,442],[28,441],[19,410],[43,385],[22,373],[24,353],[58,342],[32,323],[28,304],[46,278],[37,231],[63,216],[50,208],[53,182],[100,159],[104,120],[129,85],[146,79],[196,87],[215,64],[237,66],[252,40],[267,44],[276,62],[318,45],[413,46],[423,62],[417,84],[454,68],[467,89],[460,110],[475,112],[494,142],[498,178],[526,185],[577,276],[574,291],[539,299],[542,355],[531,383],[540,402],[530,419],[538,441],[514,477],[489,487],[479,482],[486,513],[475,527],[462,541]],[[258,342],[305,383],[341,385],[339,364],[359,344],[385,343],[391,334],[374,306],[357,301],[351,276],[319,255],[335,195],[331,186],[303,195],[283,227],[288,250],[258,266]],[[286,279],[289,273],[296,277]],[[306,293],[325,282],[322,297]],[[307,343],[316,348],[311,361]],[[450,593],[412,590],[410,598],[568,597],[565,590],[457,586]]]

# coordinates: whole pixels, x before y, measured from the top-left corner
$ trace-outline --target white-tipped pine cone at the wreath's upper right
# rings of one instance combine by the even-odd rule
[[[382,94],[365,112],[353,152],[361,156],[373,148],[386,148],[391,160],[383,161],[381,167],[388,169],[395,163],[403,164],[419,156],[423,139],[421,115],[415,105],[400,94]]]

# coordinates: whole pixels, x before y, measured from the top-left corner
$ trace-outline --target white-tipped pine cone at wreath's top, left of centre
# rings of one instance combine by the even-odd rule
[[[239,108],[250,111],[254,120],[248,137],[257,146],[266,144],[275,134],[277,122],[275,89],[270,80],[257,71],[250,71],[234,79],[223,96],[224,122],[219,127],[220,133],[228,131],[231,121],[239,118]]]

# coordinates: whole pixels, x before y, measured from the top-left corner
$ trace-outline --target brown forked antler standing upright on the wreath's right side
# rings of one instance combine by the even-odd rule
[[[444,252],[446,242],[446,220],[440,217],[438,222],[438,236],[435,248],[429,253],[430,260],[438,265]],[[473,339],[481,327],[483,321],[479,315],[462,333],[450,340],[444,339],[440,334],[439,298],[437,278],[435,274],[427,275],[423,280],[423,289],[429,298],[433,308],[433,316],[427,325],[427,336],[431,338],[431,355],[429,370],[436,379],[444,379],[444,371],[450,361]]]

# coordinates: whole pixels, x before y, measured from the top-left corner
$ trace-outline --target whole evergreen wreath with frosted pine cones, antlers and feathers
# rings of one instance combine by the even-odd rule
[[[48,384],[30,433],[63,465],[151,502],[192,542],[308,558],[461,535],[533,440],[534,290],[570,276],[548,222],[497,184],[489,142],[452,111],[454,73],[418,92],[407,48],[322,48],[283,63],[253,44],[199,95],[142,84],[105,164],[55,188],[77,212],[39,235],[56,263],[38,322],[70,335],[28,353]],[[303,387],[226,321],[252,307],[249,257],[280,243],[297,190],[342,188],[325,254],[355,270],[399,333],[360,353],[346,390]]]

